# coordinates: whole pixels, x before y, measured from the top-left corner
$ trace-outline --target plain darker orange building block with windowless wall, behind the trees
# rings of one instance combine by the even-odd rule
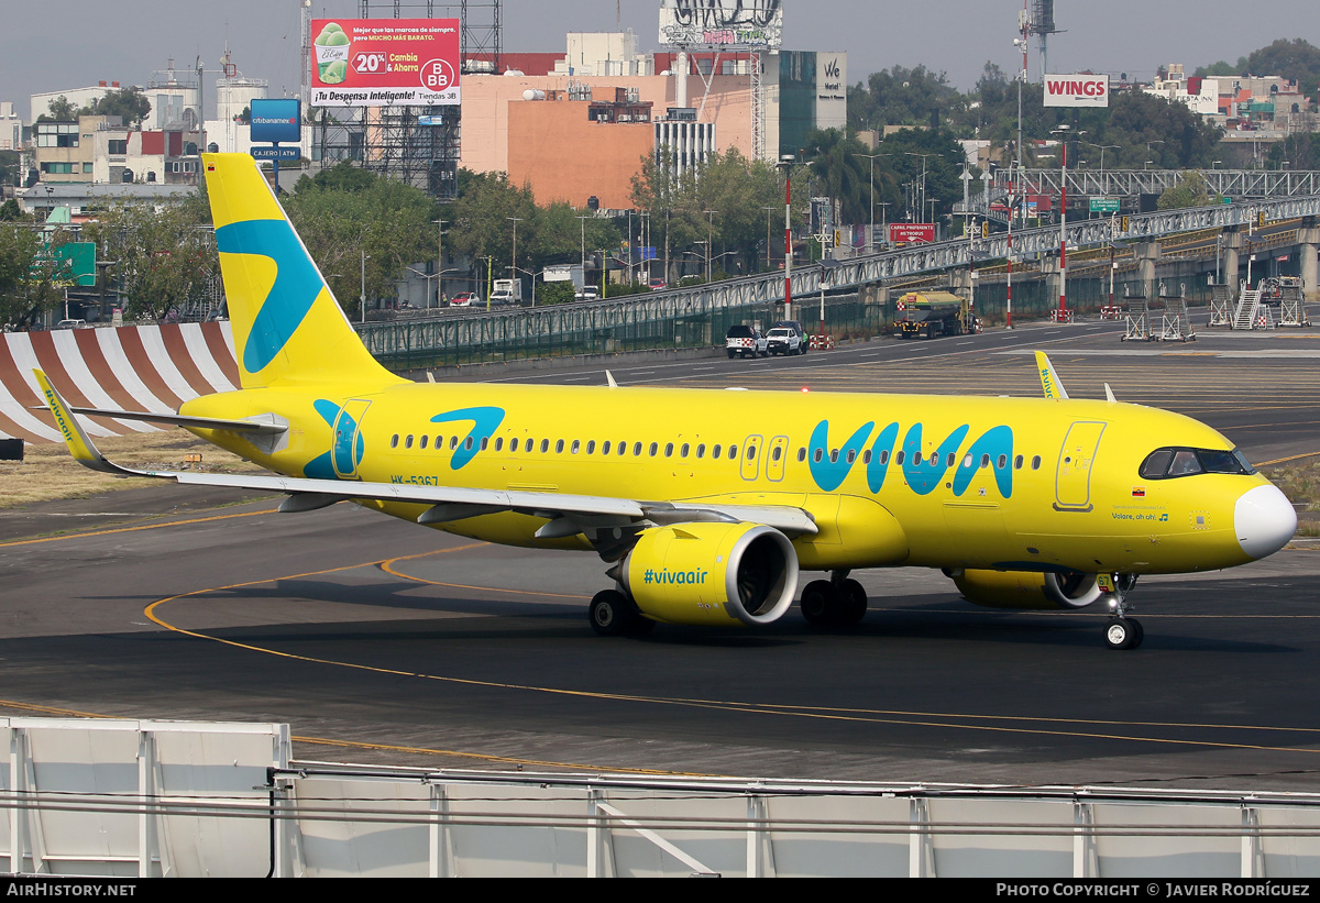
[[[508,102],[508,180],[531,185],[539,205],[566,201],[605,210],[632,207],[632,177],[655,150],[651,103],[616,88],[591,100],[552,91],[544,100]]]

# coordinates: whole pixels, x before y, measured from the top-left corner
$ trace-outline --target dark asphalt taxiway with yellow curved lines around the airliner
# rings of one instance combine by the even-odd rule
[[[1133,347],[1114,329],[611,370],[623,387],[1034,395],[1024,355],[1041,347],[1073,396],[1109,382],[1257,462],[1320,453],[1320,337]],[[603,383],[602,370],[480,376]],[[288,721],[296,755],[317,760],[1320,788],[1307,544],[1143,580],[1133,652],[1101,644],[1100,615],[975,609],[919,569],[861,574],[873,610],[855,631],[795,610],[764,631],[602,639],[585,614],[607,582],[594,556],[275,504],[164,486],[0,515],[0,713]]]

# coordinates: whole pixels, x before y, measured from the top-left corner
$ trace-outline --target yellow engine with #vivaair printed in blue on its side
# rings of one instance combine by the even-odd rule
[[[619,573],[653,620],[760,626],[793,603],[797,553],[762,524],[675,524],[644,531]]]

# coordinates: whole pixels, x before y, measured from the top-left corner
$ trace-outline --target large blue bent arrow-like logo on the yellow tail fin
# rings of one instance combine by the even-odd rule
[[[322,281],[284,219],[247,219],[215,230],[222,253],[252,253],[275,261],[275,285],[261,301],[243,346],[243,368],[257,374],[297,331],[321,294]]]

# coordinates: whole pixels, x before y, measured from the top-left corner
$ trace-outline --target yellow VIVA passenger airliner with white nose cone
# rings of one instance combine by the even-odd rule
[[[1142,574],[1216,570],[1280,549],[1287,498],[1188,417],[1069,400],[1038,354],[1043,399],[417,384],[363,347],[251,157],[203,154],[243,388],[172,422],[269,477],[111,463],[37,378],[74,457],[180,483],[350,500],[491,543],[595,552],[615,584],[601,634],[656,622],[817,624],[866,613],[859,568],[941,568],[977,605],[1107,610]],[[612,383],[612,380],[611,380]],[[110,412],[124,417],[125,412]]]

